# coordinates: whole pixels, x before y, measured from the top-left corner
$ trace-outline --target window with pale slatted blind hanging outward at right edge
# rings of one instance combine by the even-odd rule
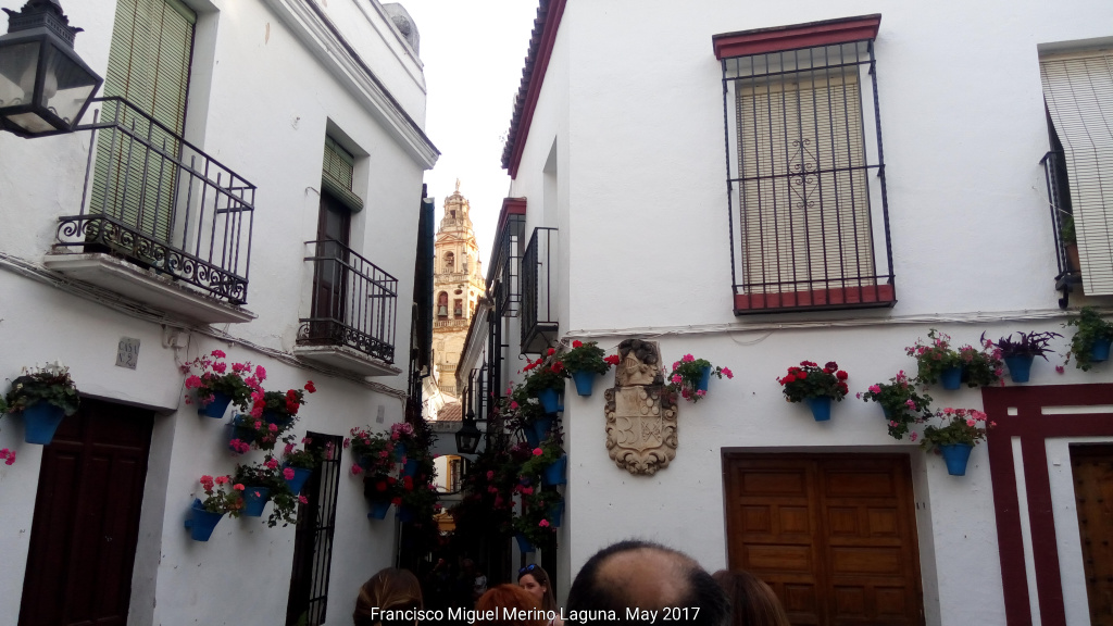
[[[1113,295],[1113,50],[1040,59],[1051,134],[1065,166],[1056,224],[1073,217],[1086,295]],[[1057,146],[1056,146],[1057,148]],[[1067,197],[1063,197],[1063,196]]]

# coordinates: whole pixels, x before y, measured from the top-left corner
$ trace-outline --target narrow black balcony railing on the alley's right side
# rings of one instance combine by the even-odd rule
[[[522,254],[522,352],[538,354],[556,335],[556,281],[553,251],[556,228],[534,228]]]

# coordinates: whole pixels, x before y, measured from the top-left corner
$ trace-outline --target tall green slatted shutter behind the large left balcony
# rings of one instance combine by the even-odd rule
[[[119,96],[165,126],[151,125],[129,110],[121,123],[171,156],[180,154],[186,94],[196,14],[178,0],[119,0],[108,56],[105,95]],[[107,104],[102,120],[114,119]],[[92,209],[122,221],[141,233],[170,241],[177,168],[121,133],[100,135],[92,188]]]

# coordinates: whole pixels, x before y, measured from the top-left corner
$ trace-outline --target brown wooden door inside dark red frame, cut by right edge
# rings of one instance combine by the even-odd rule
[[[1113,446],[1071,446],[1090,624],[1113,626]]]

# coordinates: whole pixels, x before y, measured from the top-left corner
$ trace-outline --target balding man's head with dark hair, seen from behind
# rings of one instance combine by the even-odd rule
[[[620,541],[588,559],[569,589],[568,609],[614,612],[619,624],[627,620],[627,608],[661,610],[667,607],[699,607],[695,616],[672,616],[693,626],[726,626],[730,605],[722,589],[691,557],[648,541]],[[595,614],[601,617],[605,615]],[[661,615],[659,615],[659,618]],[[598,624],[614,626],[604,618]]]

